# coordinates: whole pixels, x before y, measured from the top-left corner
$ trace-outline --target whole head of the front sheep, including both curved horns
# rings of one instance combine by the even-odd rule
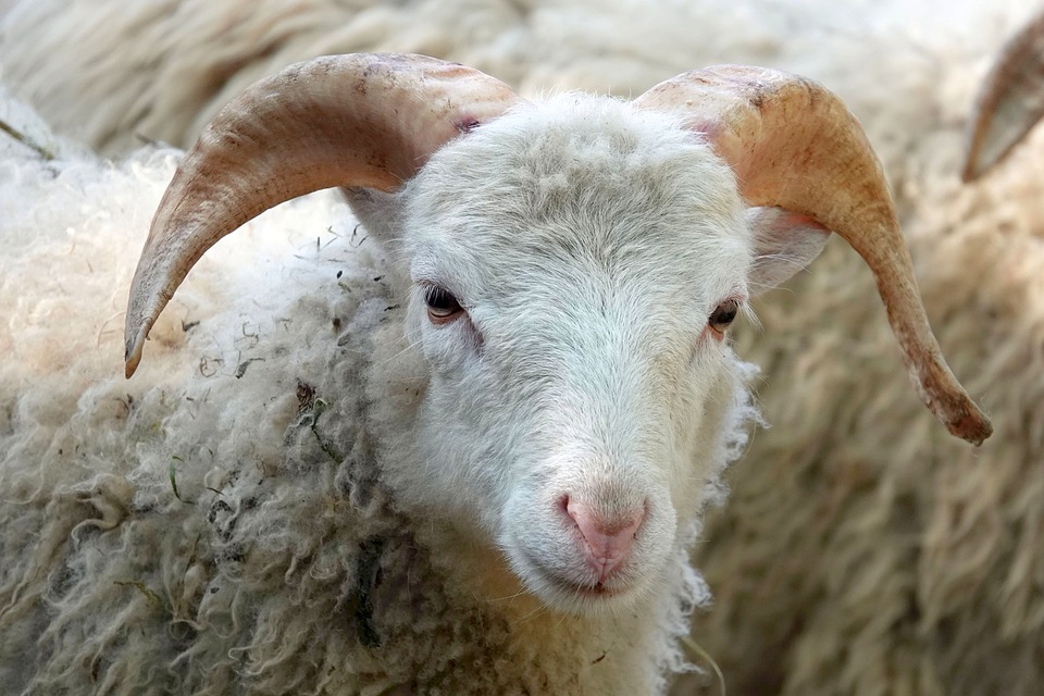
[[[402,423],[412,456],[388,477],[482,530],[560,609],[657,585],[742,388],[725,331],[826,229],[873,270],[929,406],[966,439],[990,433],[942,360],[855,119],[815,83],[735,66],[633,103],[530,103],[421,57],[324,58],[259,83],[161,202],[130,290],[128,375],[214,241],[338,185],[401,246],[403,331],[430,375]]]

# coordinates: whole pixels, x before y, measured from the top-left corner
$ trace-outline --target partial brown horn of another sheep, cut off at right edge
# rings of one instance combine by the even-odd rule
[[[1044,13],[1016,34],[983,80],[960,176],[971,182],[1004,159],[1044,116]]]

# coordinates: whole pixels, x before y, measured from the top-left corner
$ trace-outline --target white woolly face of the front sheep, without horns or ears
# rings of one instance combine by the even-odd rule
[[[458,138],[400,196],[431,371],[400,493],[478,521],[551,606],[630,606],[697,513],[734,398],[708,324],[754,258],[731,170],[670,117],[564,96]],[[430,312],[430,288],[463,311]]]

